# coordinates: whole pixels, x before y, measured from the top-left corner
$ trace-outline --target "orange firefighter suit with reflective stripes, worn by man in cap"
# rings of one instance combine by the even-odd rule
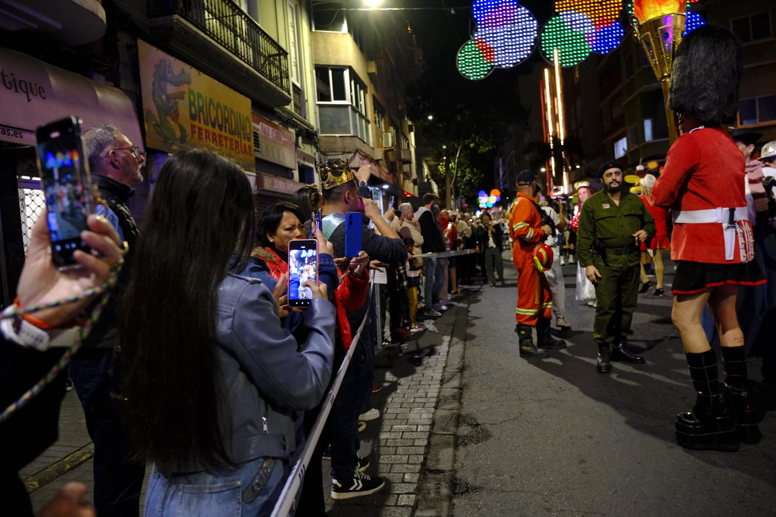
[[[518,192],[509,214],[509,236],[514,240],[512,262],[518,269],[518,306],[515,318],[523,325],[536,326],[539,318],[549,319],[553,295],[544,273],[533,260],[534,248],[542,242],[542,216],[533,199]]]

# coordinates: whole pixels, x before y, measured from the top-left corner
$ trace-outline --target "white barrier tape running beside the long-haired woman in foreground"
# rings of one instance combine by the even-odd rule
[[[369,294],[366,298],[366,313],[364,319],[361,320],[361,325],[359,325],[359,332],[355,333],[355,336],[353,336],[353,339],[351,340],[348,353],[345,353],[345,358],[342,360],[342,364],[337,371],[337,377],[334,378],[334,384],[326,394],[326,398],[324,398],[324,404],[320,407],[318,418],[315,419],[315,423],[313,424],[312,429],[310,429],[310,436],[304,444],[302,454],[300,455],[299,460],[296,460],[293,469],[291,469],[291,474],[289,474],[286,485],[283,487],[282,492],[280,492],[280,497],[278,498],[278,502],[275,503],[275,509],[272,510],[271,517],[287,517],[293,506],[295,506],[296,495],[298,495],[299,491],[302,489],[304,474],[307,472],[307,466],[310,464],[310,459],[313,457],[313,451],[318,443],[318,439],[320,439],[320,433],[324,430],[324,425],[326,425],[326,419],[329,416],[329,412],[331,412],[331,405],[334,404],[334,398],[337,398],[342,379],[345,377],[345,371],[348,370],[350,359],[353,357],[353,351],[355,350],[355,347],[358,346],[366,320],[369,319],[369,304],[372,302],[373,287],[374,277],[369,281]]]

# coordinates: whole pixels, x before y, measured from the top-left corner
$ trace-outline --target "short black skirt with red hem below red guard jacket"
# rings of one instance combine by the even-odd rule
[[[705,262],[677,261],[672,295],[697,295],[719,285],[759,285],[765,277],[751,260],[744,264],[708,264]]]

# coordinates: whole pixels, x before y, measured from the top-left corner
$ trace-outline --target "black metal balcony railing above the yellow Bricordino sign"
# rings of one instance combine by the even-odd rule
[[[151,17],[178,15],[289,91],[288,53],[233,0],[148,0]]]

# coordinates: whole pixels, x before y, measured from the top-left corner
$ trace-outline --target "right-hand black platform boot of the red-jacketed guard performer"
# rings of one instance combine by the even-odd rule
[[[743,443],[760,443],[763,433],[757,426],[764,418],[747,388],[747,358],[743,346],[722,346],[722,359],[725,360],[725,388],[728,392],[733,411],[736,414],[736,433]]]

